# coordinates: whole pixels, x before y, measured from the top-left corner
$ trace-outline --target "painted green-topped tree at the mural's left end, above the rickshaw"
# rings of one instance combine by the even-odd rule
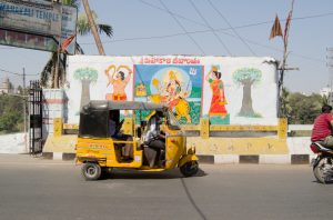
[[[98,79],[98,71],[92,68],[80,68],[74,72],[74,79],[80,80],[82,84],[80,109],[90,101],[90,83]]]

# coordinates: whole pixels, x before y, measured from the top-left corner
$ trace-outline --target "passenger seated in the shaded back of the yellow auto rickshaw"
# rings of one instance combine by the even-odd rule
[[[121,141],[133,141],[133,138],[129,134],[122,133],[121,127],[122,122],[119,122],[119,111],[110,111],[109,112],[109,133],[110,137]],[[123,161],[131,161],[133,160],[133,144],[127,142],[123,147],[122,153]]]

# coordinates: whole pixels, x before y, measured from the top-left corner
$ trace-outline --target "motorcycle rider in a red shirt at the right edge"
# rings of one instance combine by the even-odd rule
[[[333,116],[332,107],[324,104],[322,107],[322,113],[314,120],[311,141],[320,142],[323,147],[333,148]]]

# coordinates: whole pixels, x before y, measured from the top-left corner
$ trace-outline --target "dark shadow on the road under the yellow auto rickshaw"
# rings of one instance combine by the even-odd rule
[[[202,169],[199,169],[198,173],[189,178],[198,178],[208,176]],[[130,169],[112,169],[111,172],[104,173],[100,180],[110,179],[181,179],[184,178],[179,169],[165,170],[165,171],[140,171]],[[186,178],[188,179],[188,178]]]

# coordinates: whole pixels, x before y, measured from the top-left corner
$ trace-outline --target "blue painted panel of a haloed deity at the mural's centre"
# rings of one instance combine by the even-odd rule
[[[199,123],[201,67],[135,66],[135,70],[137,89],[142,87],[143,80],[149,88],[149,101],[167,104],[181,123]],[[137,100],[141,98],[139,94],[137,92]]]

